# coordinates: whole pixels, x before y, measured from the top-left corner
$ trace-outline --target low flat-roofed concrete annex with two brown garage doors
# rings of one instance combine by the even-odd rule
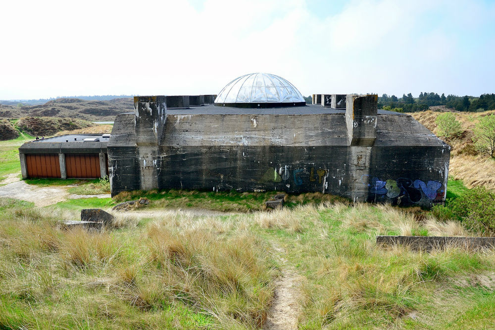
[[[69,134],[19,147],[22,178],[95,179],[108,175],[110,134]]]

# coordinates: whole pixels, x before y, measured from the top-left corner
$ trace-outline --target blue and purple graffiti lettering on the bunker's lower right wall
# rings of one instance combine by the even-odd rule
[[[438,181],[430,180],[425,184],[421,180],[413,181],[407,178],[387,181],[372,178],[368,184],[369,191],[375,195],[386,195],[389,198],[397,197],[398,199],[407,196],[413,203],[419,202],[423,198],[423,194],[430,200],[442,199],[444,192],[444,189],[441,189],[442,186],[442,183]]]

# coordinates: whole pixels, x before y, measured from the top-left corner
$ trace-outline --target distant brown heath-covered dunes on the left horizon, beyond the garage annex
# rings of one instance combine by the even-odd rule
[[[60,117],[90,121],[113,121],[119,113],[133,111],[132,98],[82,100],[57,98],[38,105],[0,104],[0,118]]]

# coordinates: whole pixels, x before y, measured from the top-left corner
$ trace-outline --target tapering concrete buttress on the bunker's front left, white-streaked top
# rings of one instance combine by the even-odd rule
[[[136,145],[138,150],[140,187],[143,190],[158,189],[158,144],[166,121],[165,96],[135,96]]]

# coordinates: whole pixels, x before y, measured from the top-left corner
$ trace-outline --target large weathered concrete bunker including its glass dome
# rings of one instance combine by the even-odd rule
[[[261,73],[233,80],[214,105],[167,109],[166,96],[136,96],[107,144],[112,195],[279,190],[427,207],[445,200],[445,142],[410,115],[378,110],[377,95],[333,94],[331,107],[321,96],[306,105],[288,81]]]

